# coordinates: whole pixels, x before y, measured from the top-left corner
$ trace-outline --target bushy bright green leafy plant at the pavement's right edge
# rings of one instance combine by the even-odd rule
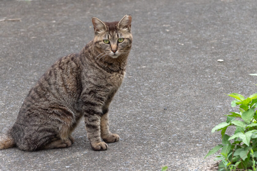
[[[239,106],[240,112],[230,112],[226,122],[215,126],[211,132],[221,131],[222,144],[209,151],[205,158],[222,148],[215,160],[221,160],[219,171],[257,171],[257,93],[244,98],[244,96],[231,93],[228,96],[235,98],[231,106]],[[235,127],[232,136],[225,134],[229,126]],[[230,140],[234,140],[230,142]]]

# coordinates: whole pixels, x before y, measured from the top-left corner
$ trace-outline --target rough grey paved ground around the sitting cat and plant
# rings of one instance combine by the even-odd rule
[[[1,150],[0,170],[209,170],[221,142],[210,131],[236,110],[224,93],[256,93],[255,0],[2,0],[0,20],[21,21],[0,22],[0,133],[47,68],[93,38],[92,16],[125,14],[133,48],[110,107],[120,141],[92,151],[81,122],[69,148]]]

